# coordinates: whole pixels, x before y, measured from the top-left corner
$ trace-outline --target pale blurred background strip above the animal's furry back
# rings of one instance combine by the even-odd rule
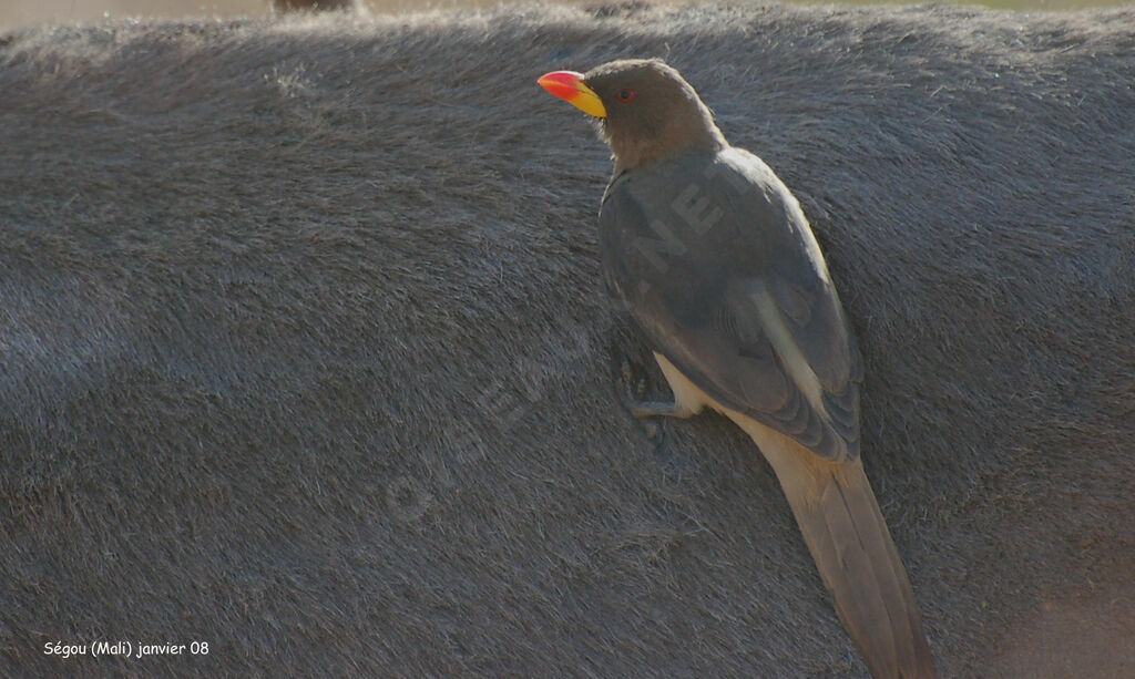
[[[599,5],[602,0],[574,0]],[[673,1],[673,0],[671,0]],[[800,1],[800,0],[797,0]],[[818,0],[802,0],[819,3]],[[856,0],[844,0],[856,1]],[[894,3],[909,1],[892,0]],[[972,3],[1002,9],[1069,10],[1105,7],[1130,0],[970,0]],[[43,22],[91,22],[102,17],[217,17],[266,16],[272,0],[0,0],[0,29]],[[361,0],[375,14],[406,12],[456,7],[507,5],[499,0]],[[864,1],[863,3],[878,3]]]

